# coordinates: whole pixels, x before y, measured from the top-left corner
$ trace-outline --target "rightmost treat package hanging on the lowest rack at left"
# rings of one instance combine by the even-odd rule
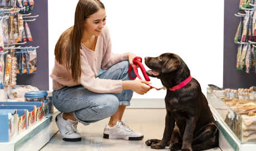
[[[27,58],[27,74],[33,74],[36,73],[37,69],[37,55],[36,55],[36,49],[35,48],[29,48],[28,49],[28,58]]]

